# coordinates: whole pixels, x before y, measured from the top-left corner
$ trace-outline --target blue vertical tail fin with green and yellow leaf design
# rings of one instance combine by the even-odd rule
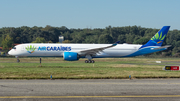
[[[169,28],[170,26],[163,26],[163,28],[161,28],[161,30],[159,30],[145,45],[142,45],[141,48],[147,46],[161,46]]]

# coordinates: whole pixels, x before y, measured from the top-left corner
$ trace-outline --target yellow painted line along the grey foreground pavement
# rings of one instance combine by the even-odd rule
[[[127,95],[127,96],[0,96],[0,99],[23,99],[23,98],[163,98],[180,97],[180,95]]]

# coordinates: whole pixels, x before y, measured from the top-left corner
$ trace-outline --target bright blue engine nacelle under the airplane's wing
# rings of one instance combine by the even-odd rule
[[[67,61],[75,61],[79,60],[79,55],[76,52],[64,52],[63,58]]]

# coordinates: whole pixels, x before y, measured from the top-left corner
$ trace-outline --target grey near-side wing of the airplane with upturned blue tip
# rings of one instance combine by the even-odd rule
[[[85,50],[81,50],[79,51],[80,54],[92,54],[95,55],[96,53],[102,52],[104,49],[107,48],[111,48],[116,46],[120,41],[115,42],[114,44],[110,45],[110,46],[106,46],[106,47],[100,47],[100,48],[91,48],[91,49],[85,49]]]

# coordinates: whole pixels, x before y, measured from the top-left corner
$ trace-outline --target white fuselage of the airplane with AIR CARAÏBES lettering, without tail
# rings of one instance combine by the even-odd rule
[[[111,44],[40,44],[28,43],[15,46],[8,54],[14,56],[37,56],[37,57],[62,57],[64,52],[79,52],[91,48],[99,48]],[[31,48],[30,48],[31,46]],[[108,48],[93,56],[100,57],[124,57],[136,52],[142,45],[135,44],[118,44],[112,48]],[[29,51],[28,51],[29,48]],[[34,49],[34,50],[33,50]],[[32,52],[32,53],[31,53]],[[81,53],[79,53],[81,54]]]

